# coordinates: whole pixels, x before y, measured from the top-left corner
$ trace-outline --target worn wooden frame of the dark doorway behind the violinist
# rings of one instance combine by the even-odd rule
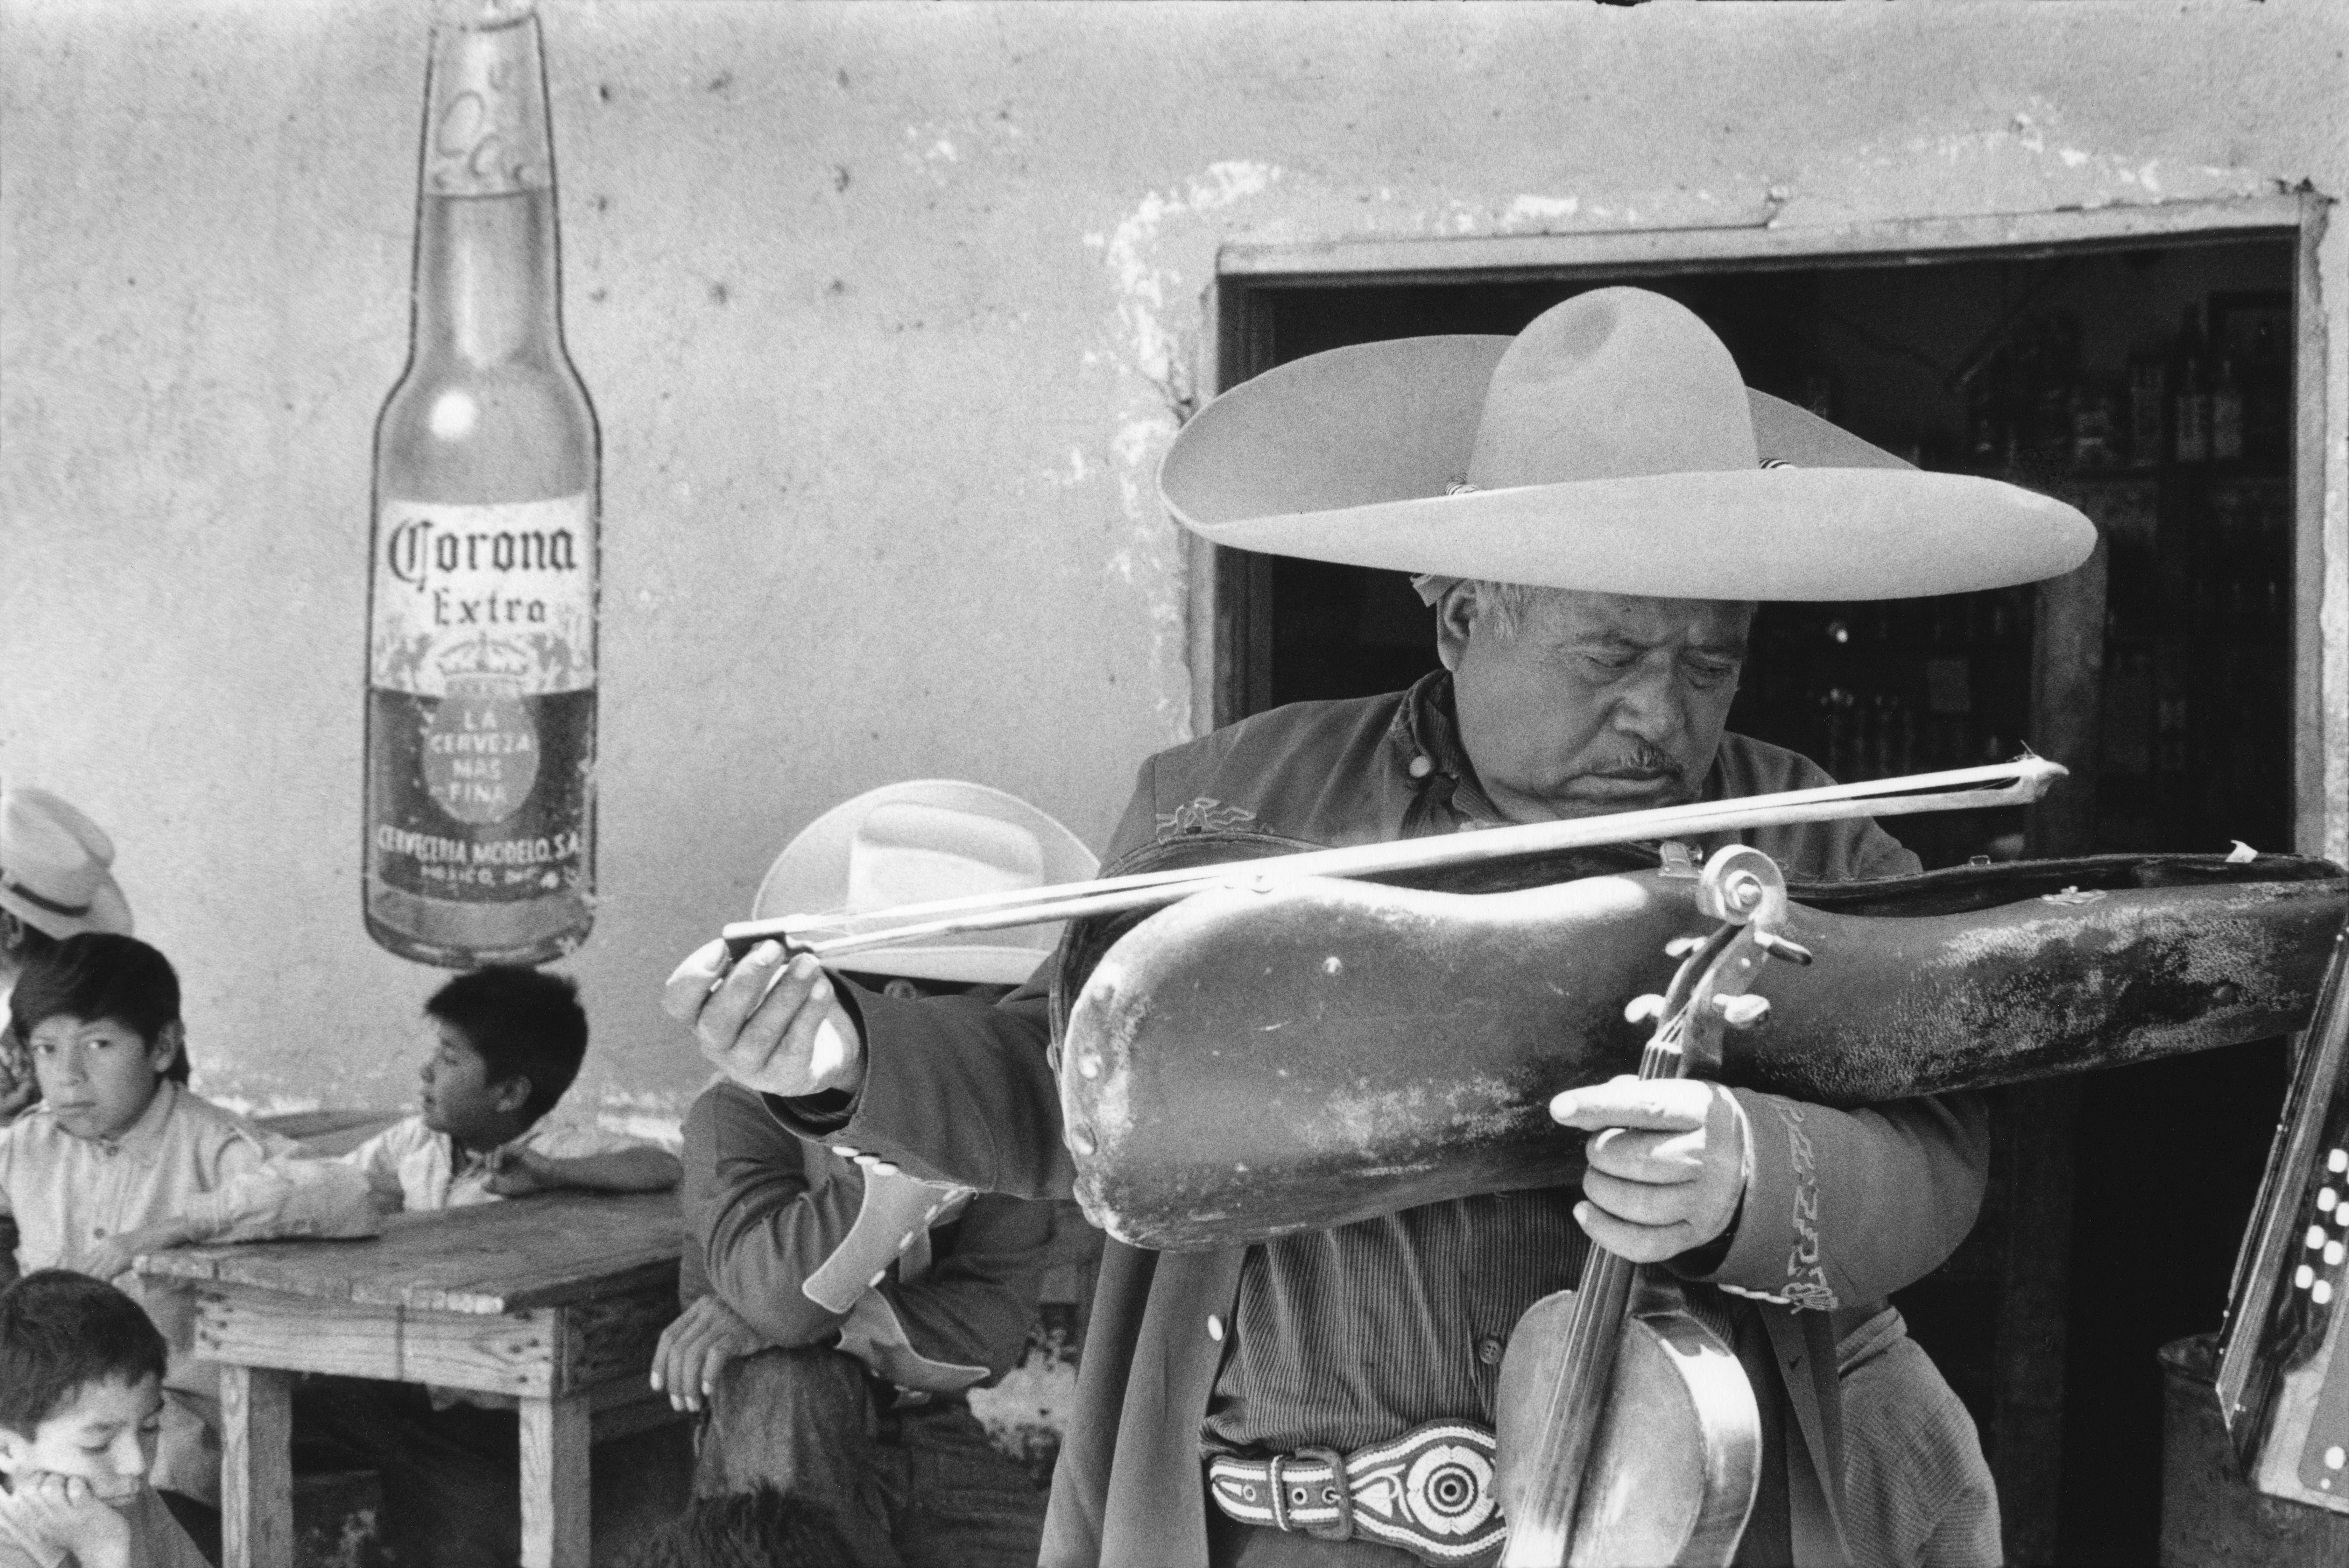
[[[2032,261],[2081,251],[2133,251],[2175,242],[2293,242],[2293,824],[2302,854],[2349,854],[2349,765],[2328,779],[2328,758],[2349,758],[2349,634],[2323,643],[2330,577],[2349,577],[2349,538],[2328,552],[2326,465],[2333,336],[2318,246],[2330,197],[2281,192],[2156,207],[2100,207],[1875,223],[1738,228],[1637,228],[1574,235],[1431,239],[1226,242],[1205,291],[1200,387],[1224,392],[1264,369],[1261,300],[1278,289],[1341,284],[1529,282],[1574,277],[1672,277]],[[1271,561],[1184,535],[1191,620],[1191,725],[1233,723],[1271,699]],[[2337,589],[2349,599],[2349,587]],[[2349,603],[2335,620],[2349,622]],[[2328,692],[2326,674],[2342,690]],[[2330,704],[2328,704],[2330,697]],[[2330,718],[2330,723],[2328,723]],[[2337,796],[2328,796],[2335,789]]]

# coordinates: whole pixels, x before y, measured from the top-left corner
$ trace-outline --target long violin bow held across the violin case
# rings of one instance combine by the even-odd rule
[[[1921,812],[2027,805],[2041,798],[2060,777],[2065,777],[2062,765],[2025,753],[2011,763],[1985,768],[1914,772],[1896,779],[1870,779],[1865,784],[1820,784],[1818,789],[1788,789],[1771,796],[1741,796],[1736,800],[1691,800],[1687,805],[1658,805],[1640,812],[1529,822],[1475,833],[1348,845],[1344,850],[1304,850],[1238,864],[1139,871],[1090,883],[897,904],[853,915],[738,920],[721,937],[735,958],[749,953],[761,941],[782,941],[792,951],[806,951],[822,962],[834,962],[867,948],[958,932],[1001,932],[1017,925],[1043,925],[1045,920],[1081,920],[1135,908],[1160,908],[1210,887],[1266,890],[1301,876],[1388,876],[1431,866],[1468,866],[1658,838],[1701,838],[1705,833],[1736,833],[1797,822],[1914,817]]]

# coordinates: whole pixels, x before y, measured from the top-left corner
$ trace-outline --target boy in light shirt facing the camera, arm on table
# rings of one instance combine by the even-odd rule
[[[366,1181],[190,1094],[179,976],[134,937],[82,932],[26,965],[9,998],[42,1103],[0,1129],[0,1211],[26,1272],[113,1279],[169,1347],[153,1481],[216,1507],[218,1373],[193,1354],[195,1300],[129,1275],[186,1242],[378,1230]]]

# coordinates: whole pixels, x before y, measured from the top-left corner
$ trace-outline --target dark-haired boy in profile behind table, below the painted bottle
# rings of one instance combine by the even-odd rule
[[[573,981],[489,965],[435,991],[425,1019],[432,1045],[418,1115],[343,1155],[385,1207],[460,1209],[554,1188],[677,1185],[677,1155],[547,1120],[587,1056],[587,1014]]]

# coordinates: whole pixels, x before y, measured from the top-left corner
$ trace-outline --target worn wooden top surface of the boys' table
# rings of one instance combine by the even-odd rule
[[[428,1312],[526,1312],[674,1282],[669,1192],[543,1192],[395,1214],[366,1242],[244,1242],[148,1253],[139,1272]]]

